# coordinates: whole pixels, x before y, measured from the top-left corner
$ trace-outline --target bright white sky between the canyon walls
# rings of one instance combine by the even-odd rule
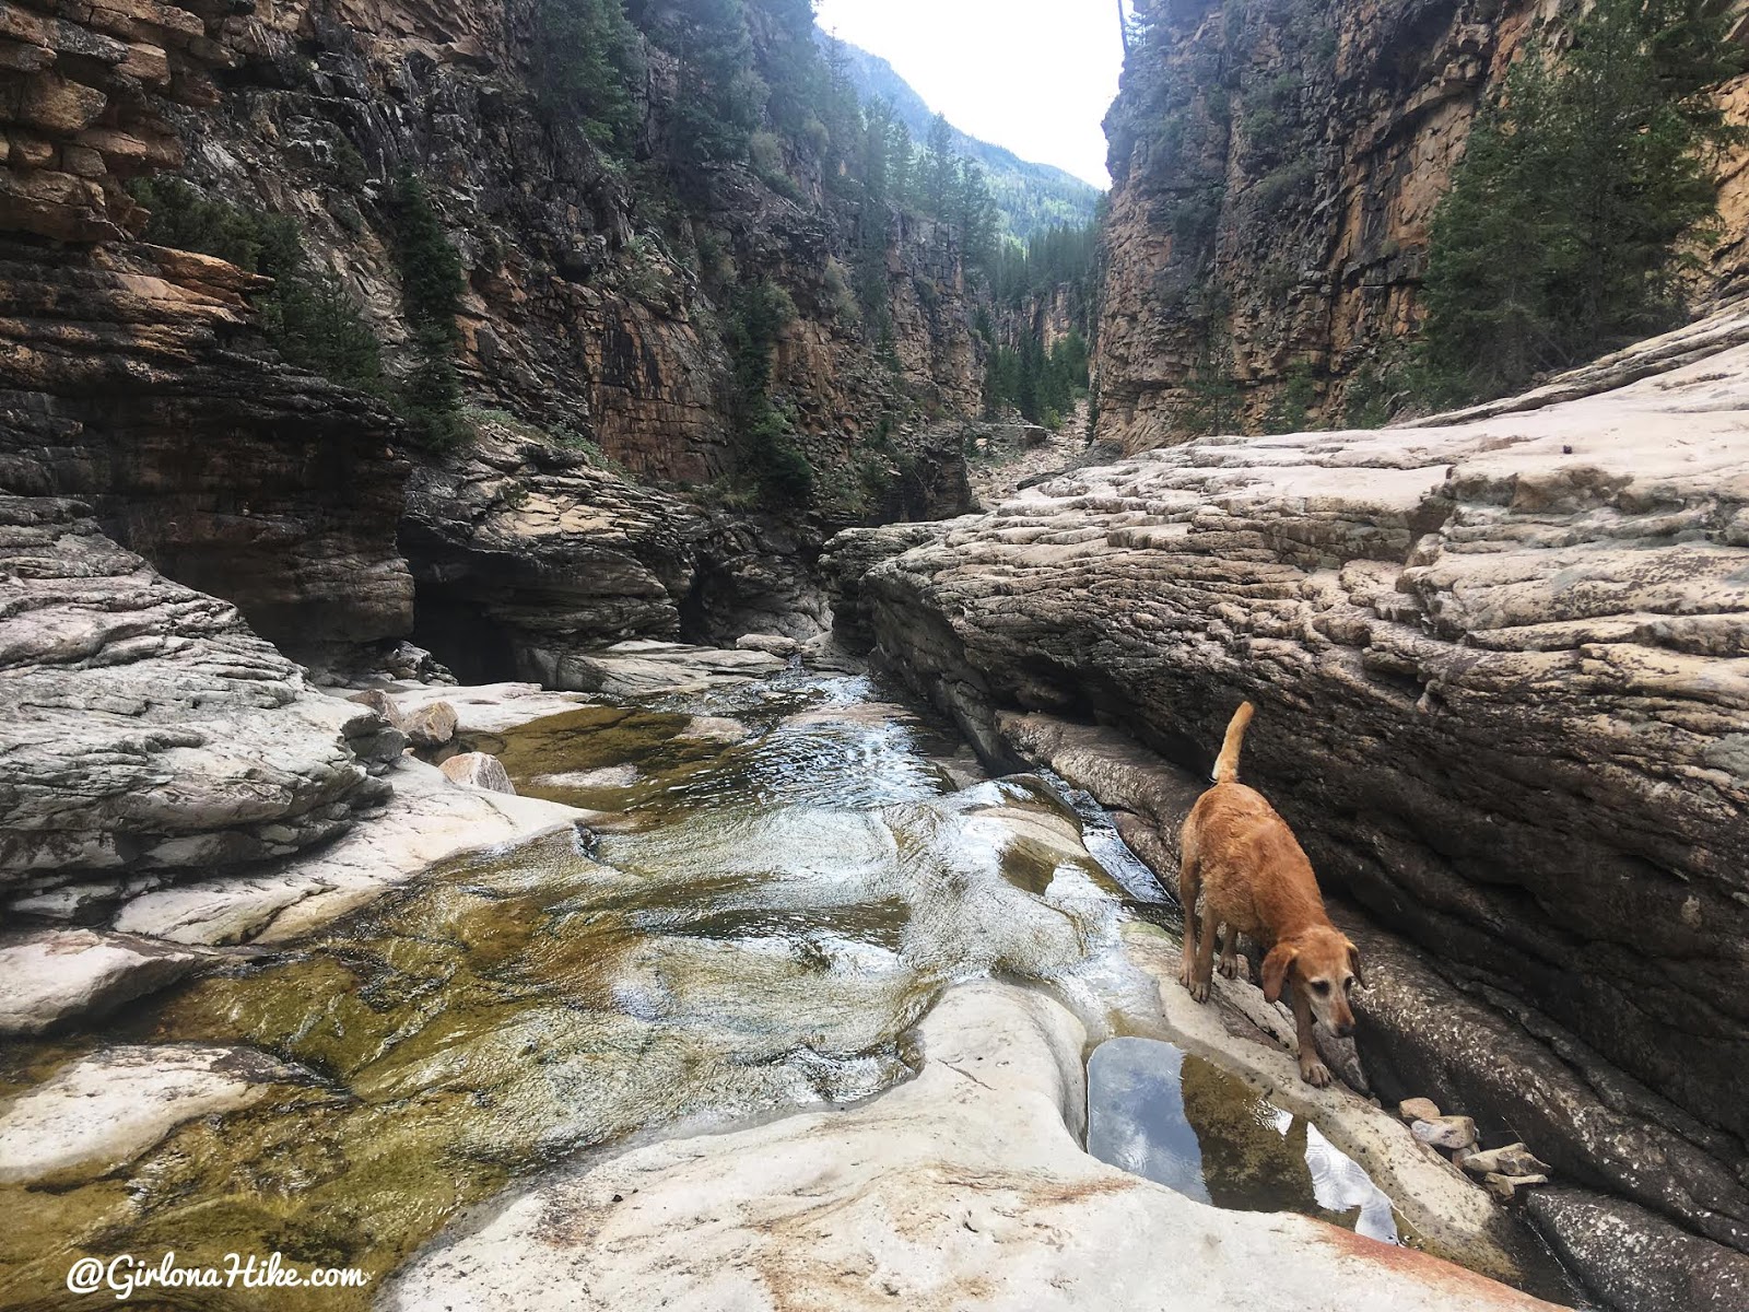
[[[1116,0],[819,0],[820,26],[878,54],[960,131],[1098,187],[1118,94]]]

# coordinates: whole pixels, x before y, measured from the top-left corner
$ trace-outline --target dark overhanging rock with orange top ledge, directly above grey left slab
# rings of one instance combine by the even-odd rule
[[[0,240],[0,488],[87,500],[297,654],[402,635],[399,425],[266,352],[245,301],[262,282],[157,247]]]

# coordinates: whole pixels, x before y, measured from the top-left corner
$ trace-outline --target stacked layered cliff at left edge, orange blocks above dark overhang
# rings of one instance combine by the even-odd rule
[[[177,166],[170,115],[220,98],[224,12],[0,17],[0,486],[86,499],[119,542],[301,653],[373,642],[411,623],[397,423],[273,357],[248,306],[262,280],[126,240],[143,215],[122,182]]]

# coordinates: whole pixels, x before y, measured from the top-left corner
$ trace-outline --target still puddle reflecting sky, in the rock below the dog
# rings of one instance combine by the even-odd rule
[[[1390,1200],[1315,1125],[1172,1043],[1095,1048],[1088,1153],[1196,1202],[1301,1212],[1397,1242]]]

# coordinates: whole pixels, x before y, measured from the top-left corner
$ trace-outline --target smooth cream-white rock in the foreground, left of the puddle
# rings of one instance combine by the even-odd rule
[[[1086,1030],[1011,985],[951,990],[915,1079],[855,1109],[680,1137],[511,1197],[387,1296],[570,1307],[1544,1307],[1293,1216],[1212,1211],[1079,1146]],[[1219,1254],[1219,1256],[1212,1256]],[[1376,1254],[1376,1256],[1375,1256]],[[1389,1254],[1385,1258],[1383,1254]]]

